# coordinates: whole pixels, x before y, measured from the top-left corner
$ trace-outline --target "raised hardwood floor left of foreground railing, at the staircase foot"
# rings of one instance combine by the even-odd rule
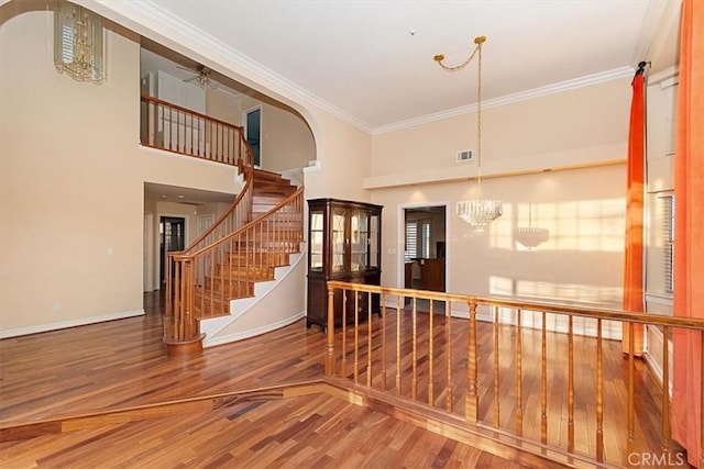
[[[156,297],[156,298],[154,298]],[[146,314],[0,340],[0,422],[26,422],[322,376],[324,336],[298,322],[275,333],[169,358],[163,301]]]

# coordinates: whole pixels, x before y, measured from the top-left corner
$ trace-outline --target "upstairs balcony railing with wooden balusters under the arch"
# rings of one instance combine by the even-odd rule
[[[242,170],[242,127],[161,99],[142,96],[142,145],[178,153]]]

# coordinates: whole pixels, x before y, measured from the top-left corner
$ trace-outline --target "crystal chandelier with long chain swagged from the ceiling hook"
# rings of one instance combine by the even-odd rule
[[[477,231],[484,230],[490,223],[498,219],[503,213],[501,200],[482,198],[482,45],[486,42],[486,36],[474,38],[476,47],[472,55],[457,67],[448,67],[442,64],[444,55],[438,54],[433,59],[443,70],[459,71],[465,68],[475,55],[479,55],[477,78],[476,78],[476,187],[477,198],[458,202],[458,216],[463,219]]]

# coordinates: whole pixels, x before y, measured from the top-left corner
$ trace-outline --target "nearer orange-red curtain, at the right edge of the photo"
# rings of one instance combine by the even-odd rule
[[[684,0],[674,161],[674,315],[704,319],[704,1]],[[688,460],[702,455],[702,340],[673,333],[672,435]]]

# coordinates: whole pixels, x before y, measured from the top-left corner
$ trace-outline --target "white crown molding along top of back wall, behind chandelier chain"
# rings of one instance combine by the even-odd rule
[[[578,88],[590,87],[593,85],[603,83],[606,81],[617,80],[620,78],[632,77],[635,68],[627,66],[620,68],[614,68],[612,70],[602,71],[594,75],[587,75],[581,78],[574,78],[572,80],[560,81],[553,85],[547,85],[544,87],[534,88],[527,91],[520,91],[514,94],[507,94],[504,97],[493,98],[482,101],[482,109],[497,108],[499,105],[513,104],[520,101],[527,101],[535,98],[540,98],[549,94],[559,93],[562,91],[569,91]],[[432,114],[421,115],[419,118],[409,119],[406,121],[397,122],[394,124],[382,125],[374,127],[372,135],[378,135],[386,132],[399,131],[403,129],[414,127],[416,125],[426,124],[429,122],[440,121],[443,119],[454,118],[462,114],[469,114],[476,112],[476,103],[463,105],[460,108],[453,108]]]

